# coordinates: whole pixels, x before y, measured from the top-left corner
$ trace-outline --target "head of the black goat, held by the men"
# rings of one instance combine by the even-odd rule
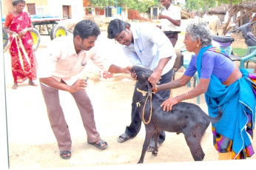
[[[149,83],[148,78],[152,74],[152,70],[134,66],[130,69],[130,72],[135,72],[137,75],[138,89],[147,91],[151,95],[152,85]]]

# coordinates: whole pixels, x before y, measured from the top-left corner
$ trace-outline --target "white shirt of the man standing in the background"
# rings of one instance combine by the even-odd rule
[[[181,20],[181,9],[180,7],[175,7],[173,4],[171,4],[167,10],[164,8],[162,14],[175,20]],[[179,27],[175,24],[172,24],[172,22],[170,22],[168,19],[160,19],[160,22],[161,30],[163,31],[180,31]]]

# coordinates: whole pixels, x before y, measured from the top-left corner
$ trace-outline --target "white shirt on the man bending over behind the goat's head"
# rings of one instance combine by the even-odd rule
[[[162,58],[171,57],[162,75],[169,72],[176,58],[169,38],[158,27],[149,23],[132,24],[131,31],[134,44],[130,44],[129,47],[123,46],[124,54],[127,55],[129,61],[133,65],[154,71]]]

